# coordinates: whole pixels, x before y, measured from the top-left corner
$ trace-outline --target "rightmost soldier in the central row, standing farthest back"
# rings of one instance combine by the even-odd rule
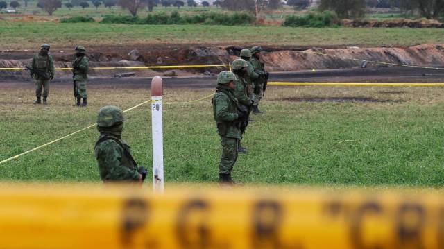
[[[254,114],[262,114],[259,110],[259,101],[261,101],[264,96],[264,91],[266,88],[266,83],[268,81],[268,72],[265,71],[264,63],[260,60],[262,48],[260,46],[253,46],[251,48],[251,65],[255,69],[256,74],[259,75],[259,78],[255,80],[255,104],[253,105],[253,113]]]

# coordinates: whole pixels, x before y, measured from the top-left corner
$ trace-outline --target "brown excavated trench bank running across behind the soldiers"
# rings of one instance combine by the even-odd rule
[[[350,69],[357,67],[389,67],[361,60],[387,62],[402,65],[444,65],[444,44],[421,44],[409,47],[378,48],[308,48],[264,46],[262,60],[266,69],[276,71],[301,71],[312,69]],[[115,47],[89,47],[90,67],[141,67],[161,65],[219,65],[236,59],[243,49],[240,46],[193,46],[193,45],[139,45]],[[73,53],[53,49],[51,54],[56,67],[71,67]],[[72,51],[69,49],[69,51]],[[0,51],[0,67],[24,68],[33,56],[32,51]],[[350,60],[350,59],[358,60]],[[224,67],[188,69],[112,69],[92,70],[92,78],[147,77],[147,76],[211,76]],[[227,68],[228,69],[228,68]],[[26,78],[26,71],[1,71],[0,78]],[[57,78],[71,77],[71,71],[56,71]]]

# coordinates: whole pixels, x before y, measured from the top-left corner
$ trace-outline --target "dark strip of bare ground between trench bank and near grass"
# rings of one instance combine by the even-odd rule
[[[444,83],[444,69],[415,69],[409,67],[380,67],[377,69],[334,69],[319,71],[275,72],[270,81],[325,83]],[[164,77],[165,87],[213,88],[215,76]],[[54,80],[52,87],[71,87],[71,80]],[[125,87],[149,88],[151,78],[90,78],[89,88]],[[33,87],[33,80],[0,78],[2,87]]]

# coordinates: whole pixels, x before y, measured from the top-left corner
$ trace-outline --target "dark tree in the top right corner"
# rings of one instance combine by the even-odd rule
[[[437,18],[444,12],[443,0],[400,0],[404,12],[418,12],[427,19]]]

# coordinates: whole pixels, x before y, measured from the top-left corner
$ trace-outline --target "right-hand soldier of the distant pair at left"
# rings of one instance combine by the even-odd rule
[[[88,80],[89,60],[85,55],[84,46],[76,46],[76,58],[72,62],[72,73],[74,80],[74,96],[76,96],[76,105],[80,106],[80,99],[83,98],[82,106],[87,106],[86,83]]]

